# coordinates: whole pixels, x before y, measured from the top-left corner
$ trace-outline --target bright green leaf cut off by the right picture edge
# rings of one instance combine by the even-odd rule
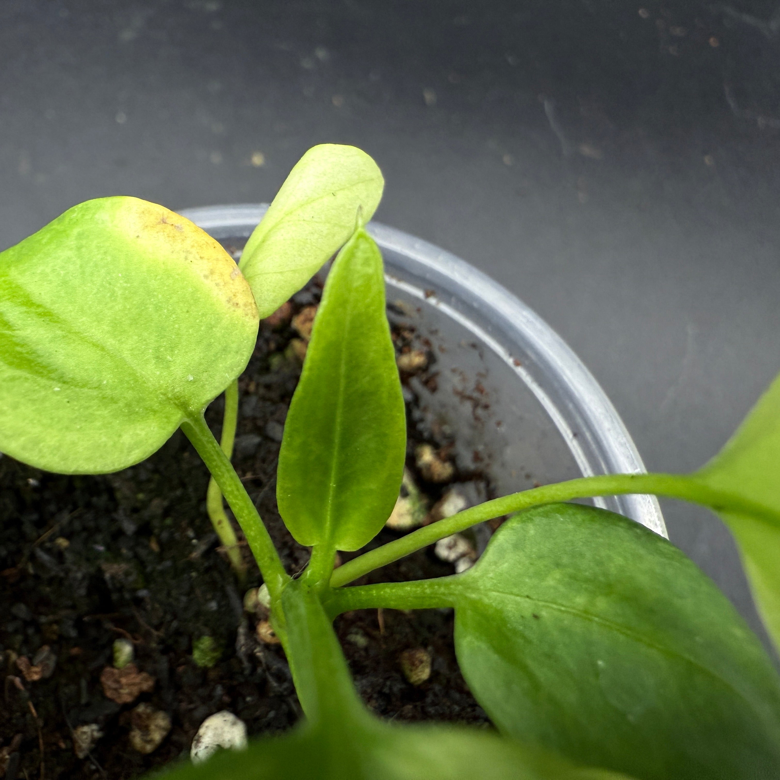
[[[725,498],[714,509],[734,534],[759,612],[780,648],[780,377],[690,480],[757,504],[759,511],[748,513]]]

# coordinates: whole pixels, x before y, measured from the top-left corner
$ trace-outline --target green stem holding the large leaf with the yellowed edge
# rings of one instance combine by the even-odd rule
[[[282,561],[279,559],[274,543],[263,525],[260,515],[255,509],[252,499],[247,495],[238,474],[230,465],[229,459],[222,452],[217,440],[209,430],[203,415],[188,418],[182,423],[184,434],[197,449],[198,455],[211,471],[225,499],[239,521],[241,530],[246,536],[250,550],[260,567],[263,580],[268,585],[272,598],[282,594],[282,587],[289,581]]]

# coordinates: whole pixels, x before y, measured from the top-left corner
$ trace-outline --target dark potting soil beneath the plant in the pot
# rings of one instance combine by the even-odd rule
[[[229,250],[231,247],[229,247]],[[261,324],[257,347],[239,382],[240,413],[233,462],[261,512],[289,573],[300,572],[309,551],[278,516],[275,471],[282,426],[300,375],[303,341],[289,317],[316,304],[311,284],[294,296],[287,317]],[[271,318],[272,319],[272,318]],[[395,326],[399,353],[426,349],[407,326]],[[435,383],[435,357],[418,378]],[[415,468],[420,442],[446,453],[452,442],[424,430],[417,399],[405,388],[409,421],[407,463],[431,504],[445,484],[426,482]],[[207,420],[218,436],[222,399]],[[449,482],[473,480],[452,474]],[[133,778],[189,754],[204,718],[229,710],[250,735],[275,734],[300,718],[300,705],[278,644],[257,639],[257,618],[243,609],[239,588],[207,517],[208,474],[177,431],[150,459],[118,473],[66,477],[0,459],[0,776],[7,778]],[[369,548],[399,534],[385,529]],[[344,555],[349,558],[358,553]],[[445,576],[452,565],[432,548],[418,551],[360,583]],[[434,719],[487,725],[459,672],[452,646],[451,610],[360,611],[335,627],[357,689],[368,707],[400,721]],[[211,668],[193,661],[193,642],[210,636],[222,653]],[[106,697],[101,672],[112,666],[112,644],[133,644],[151,692],[118,704]],[[41,647],[48,646],[49,651]],[[424,647],[432,657],[419,686],[402,675],[399,654]],[[56,657],[51,676],[51,654]],[[38,658],[35,656],[38,654]],[[28,680],[24,659],[43,658],[42,678]],[[29,667],[28,667],[29,669]],[[29,671],[28,671],[29,674]],[[34,674],[31,676],[35,676]],[[168,714],[172,728],[153,752],[130,743],[133,708],[147,702]],[[102,732],[87,757],[74,753],[73,729]]]

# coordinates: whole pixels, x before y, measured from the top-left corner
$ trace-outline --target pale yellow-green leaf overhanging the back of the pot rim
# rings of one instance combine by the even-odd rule
[[[261,317],[268,317],[317,273],[355,229],[374,215],[385,179],[356,147],[307,151],[282,184],[243,250],[240,268]]]

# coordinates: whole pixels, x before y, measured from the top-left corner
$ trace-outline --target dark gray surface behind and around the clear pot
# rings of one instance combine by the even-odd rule
[[[523,298],[648,468],[690,470],[780,369],[776,8],[2,0],[0,248],[92,197],[270,200],[356,144],[378,219]],[[756,626],[718,521],[664,509]]]

